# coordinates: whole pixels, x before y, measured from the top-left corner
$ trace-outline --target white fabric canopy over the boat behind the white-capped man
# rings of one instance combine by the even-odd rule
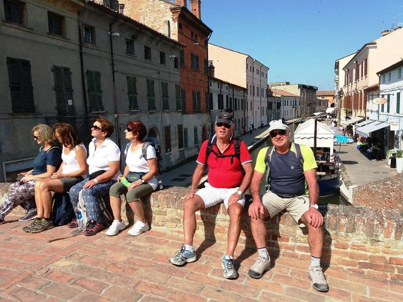
[[[315,119],[309,119],[299,124],[294,132],[294,142],[305,144],[313,148]],[[316,124],[316,147],[330,148],[330,157],[333,155],[334,134],[330,128],[321,122]]]

